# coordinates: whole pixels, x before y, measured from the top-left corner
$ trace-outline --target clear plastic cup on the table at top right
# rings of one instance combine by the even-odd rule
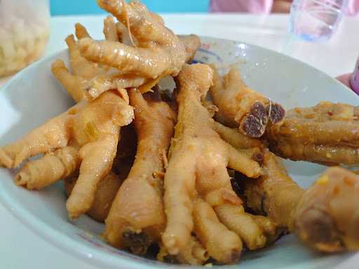
[[[330,39],[346,5],[347,0],[294,0],[290,32],[307,41]]]

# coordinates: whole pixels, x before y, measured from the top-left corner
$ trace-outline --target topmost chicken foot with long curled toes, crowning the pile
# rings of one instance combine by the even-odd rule
[[[176,76],[186,61],[184,44],[163,25],[163,20],[147,11],[146,6],[133,1],[97,0],[97,4],[128,25],[135,36],[137,47],[116,41],[79,42],[81,54],[88,60],[144,78]]]

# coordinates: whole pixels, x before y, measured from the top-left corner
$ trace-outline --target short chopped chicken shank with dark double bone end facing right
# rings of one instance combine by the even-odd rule
[[[210,88],[216,118],[230,127],[238,127],[244,135],[262,137],[268,123],[280,123],[285,116],[282,106],[245,85],[237,67],[232,66],[223,81],[215,67],[214,84]]]

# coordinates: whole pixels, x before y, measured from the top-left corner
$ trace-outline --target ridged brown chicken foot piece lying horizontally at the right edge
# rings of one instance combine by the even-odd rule
[[[320,102],[288,111],[267,130],[271,150],[283,158],[315,163],[359,163],[359,108]]]

